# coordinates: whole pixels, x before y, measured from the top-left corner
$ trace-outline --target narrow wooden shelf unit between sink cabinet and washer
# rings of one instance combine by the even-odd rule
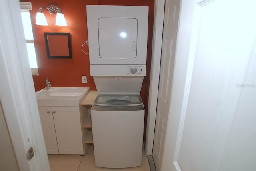
[[[93,139],[92,139],[92,121],[91,121],[91,108],[94,100],[96,99],[97,91],[89,91],[79,104],[82,137],[84,144],[84,155],[93,154]]]

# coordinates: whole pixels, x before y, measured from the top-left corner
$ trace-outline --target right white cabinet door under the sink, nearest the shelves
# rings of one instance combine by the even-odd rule
[[[60,154],[84,154],[79,107],[52,107]]]

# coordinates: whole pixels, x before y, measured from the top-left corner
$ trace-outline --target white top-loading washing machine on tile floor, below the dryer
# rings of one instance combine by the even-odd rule
[[[91,115],[95,165],[140,166],[144,128],[140,95],[100,94],[92,105]]]

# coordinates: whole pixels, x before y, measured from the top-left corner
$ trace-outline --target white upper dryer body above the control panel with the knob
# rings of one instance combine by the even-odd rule
[[[148,6],[87,5],[90,65],[146,65]]]

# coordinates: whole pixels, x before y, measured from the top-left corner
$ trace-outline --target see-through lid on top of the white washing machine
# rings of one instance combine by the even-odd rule
[[[99,94],[94,101],[94,105],[124,106],[142,105],[140,95],[110,95]]]

